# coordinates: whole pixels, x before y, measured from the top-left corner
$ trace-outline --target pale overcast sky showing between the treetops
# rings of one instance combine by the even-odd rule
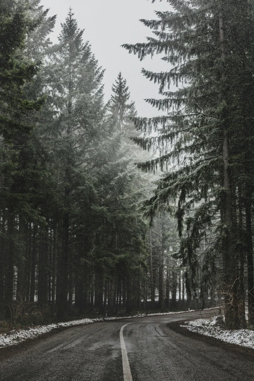
[[[54,36],[60,31],[60,22],[63,22],[69,7],[78,21],[80,29],[85,29],[84,39],[90,40],[92,52],[99,64],[106,69],[105,100],[111,95],[112,83],[121,70],[127,79],[131,98],[136,103],[140,116],[155,116],[161,114],[144,98],[157,98],[158,86],[145,79],[141,74],[142,67],[155,72],[168,71],[168,64],[159,57],[145,58],[140,62],[138,57],[120,46],[124,43],[145,42],[145,36],[152,36],[152,32],[140,21],[140,18],[155,18],[154,11],[170,9],[166,0],[41,0],[41,5],[50,8],[50,15],[57,15]]]

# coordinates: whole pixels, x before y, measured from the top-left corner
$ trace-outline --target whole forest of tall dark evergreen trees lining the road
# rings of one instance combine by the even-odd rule
[[[166,114],[141,118],[121,72],[105,100],[71,9],[53,44],[40,0],[0,0],[2,318],[216,298],[228,328],[246,305],[254,325],[254,2],[167,2],[142,20],[154,37],[123,45],[169,65],[143,69]]]

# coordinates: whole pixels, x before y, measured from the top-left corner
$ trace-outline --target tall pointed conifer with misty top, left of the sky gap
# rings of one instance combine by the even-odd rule
[[[103,138],[100,123],[103,117],[103,71],[91,53],[89,43],[84,43],[83,31],[70,9],[54,48],[54,72],[52,99],[57,117],[54,119],[55,168],[60,175],[62,213],[59,229],[62,238],[62,254],[59,262],[58,315],[67,309],[68,267],[72,262],[70,252],[70,227],[75,217],[75,197],[78,187],[86,189],[87,173],[91,170],[98,147]],[[56,93],[57,92],[57,93]],[[80,188],[79,188],[80,189]]]

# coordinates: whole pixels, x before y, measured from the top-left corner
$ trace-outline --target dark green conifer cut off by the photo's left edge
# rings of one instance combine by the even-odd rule
[[[2,210],[2,251],[1,258],[1,298],[4,290],[5,316],[10,317],[14,294],[15,253],[23,258],[16,245],[16,220],[22,220],[22,209],[29,210],[21,177],[19,155],[24,145],[24,136],[32,130],[31,112],[38,111],[44,98],[26,97],[25,83],[32,81],[39,70],[39,62],[23,54],[25,40],[29,32],[36,28],[37,21],[30,18],[26,1],[0,2],[0,133],[1,133],[1,210]],[[21,164],[22,167],[22,164]],[[18,179],[17,179],[17,174]],[[20,177],[21,175],[21,177]],[[20,180],[17,182],[17,180]],[[21,226],[19,226],[19,234]],[[5,242],[8,242],[5,243]],[[18,249],[18,250],[17,250]],[[4,266],[3,266],[4,262]],[[5,268],[3,274],[2,269]],[[20,273],[19,273],[20,275]],[[4,276],[4,282],[3,282]],[[21,278],[23,277],[23,272]],[[19,279],[21,279],[19,277]],[[18,287],[23,281],[18,282]],[[22,288],[22,286],[20,286]],[[2,300],[0,301],[0,303]]]

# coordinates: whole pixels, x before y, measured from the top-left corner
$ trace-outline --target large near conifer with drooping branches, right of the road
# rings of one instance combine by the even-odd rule
[[[235,205],[242,181],[249,195],[246,232],[251,229],[248,215],[253,194],[250,181],[243,174],[246,156],[243,158],[240,153],[243,150],[246,154],[252,145],[248,136],[252,131],[254,105],[248,102],[247,106],[243,94],[253,89],[251,57],[254,52],[250,38],[253,3],[248,0],[168,2],[173,6],[173,12],[157,12],[158,19],[142,20],[153,30],[154,37],[148,37],[146,43],[124,45],[140,59],[164,53],[163,60],[173,65],[166,73],[143,69],[146,78],[160,84],[163,96],[147,102],[168,112],[163,117],[135,120],[138,130],[145,134],[155,130],[159,136],[134,138],[134,141],[148,150],[154,146],[161,149],[160,157],[140,163],[139,167],[145,171],[155,171],[158,167],[167,169],[158,181],[154,196],[145,204],[146,215],[153,218],[158,211],[168,210],[178,218],[181,256],[191,270],[194,290],[197,250],[201,242],[207,243],[203,252],[205,282],[211,279],[215,258],[221,257],[223,266],[217,271],[221,271],[226,325],[231,329],[238,328],[244,325],[241,320],[241,309],[244,308],[241,300],[244,298],[239,285],[239,262],[244,253],[239,252],[236,244],[239,208]],[[171,83],[184,86],[172,92],[169,89]],[[250,168],[252,164],[248,159],[247,163]],[[242,203],[240,198],[238,201]],[[193,209],[195,212],[191,212]],[[249,233],[249,241],[246,238],[245,243],[249,242],[247,266],[252,321],[253,249],[250,236]],[[243,273],[240,278],[242,276]],[[202,287],[205,289],[207,284]]]

